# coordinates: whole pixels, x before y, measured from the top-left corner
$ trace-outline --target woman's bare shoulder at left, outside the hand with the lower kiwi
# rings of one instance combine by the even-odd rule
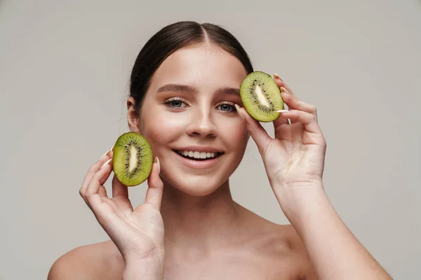
[[[112,241],[80,246],[55,260],[48,280],[120,279],[123,258]]]

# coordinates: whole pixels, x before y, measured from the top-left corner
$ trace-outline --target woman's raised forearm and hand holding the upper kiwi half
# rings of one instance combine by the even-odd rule
[[[323,190],[326,141],[316,107],[302,102],[278,76],[274,80],[288,105],[273,122],[274,139],[245,109],[236,109],[259,148],[281,209],[307,248],[316,278],[391,279],[348,230]]]

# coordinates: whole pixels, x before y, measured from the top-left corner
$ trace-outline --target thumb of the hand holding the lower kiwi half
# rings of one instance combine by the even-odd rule
[[[147,179],[147,188],[145,203],[152,204],[156,209],[161,209],[163,183],[159,177],[161,171],[161,165],[159,158],[155,158],[154,165],[152,165],[152,172]]]

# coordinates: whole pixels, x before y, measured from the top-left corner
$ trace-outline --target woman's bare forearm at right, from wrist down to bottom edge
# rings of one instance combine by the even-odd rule
[[[323,186],[276,193],[307,248],[318,279],[392,279],[342,222]],[[311,279],[311,278],[310,278]]]

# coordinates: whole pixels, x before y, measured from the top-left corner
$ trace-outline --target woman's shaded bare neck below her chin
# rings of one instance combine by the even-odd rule
[[[232,200],[228,181],[204,197],[164,186],[161,215],[165,242],[171,247],[208,251],[233,238],[241,223],[242,207]]]

